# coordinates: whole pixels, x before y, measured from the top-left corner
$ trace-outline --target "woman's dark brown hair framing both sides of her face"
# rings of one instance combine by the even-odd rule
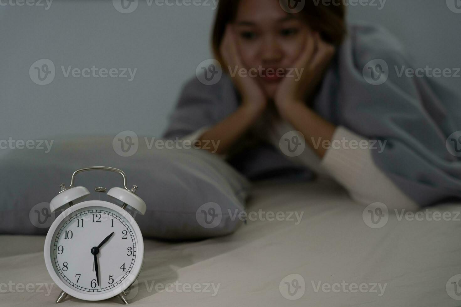
[[[219,0],[218,12],[213,26],[212,46],[215,57],[221,63],[222,58],[219,46],[223,40],[226,25],[235,20],[240,1]],[[291,0],[280,1],[280,3],[285,1],[288,4],[288,1]],[[315,2],[318,2],[318,4],[316,5]],[[305,5],[298,14],[302,16],[311,29],[319,32],[325,41],[336,46],[340,45],[347,32],[346,7],[343,5],[343,1],[337,1],[335,4],[333,4],[334,1],[331,1],[328,5],[323,5],[322,2],[321,0],[305,0]]]

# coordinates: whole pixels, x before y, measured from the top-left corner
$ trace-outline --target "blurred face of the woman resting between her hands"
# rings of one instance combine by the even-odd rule
[[[273,98],[306,44],[307,23],[285,12],[278,0],[240,0],[234,31],[245,69],[257,71],[258,83]]]

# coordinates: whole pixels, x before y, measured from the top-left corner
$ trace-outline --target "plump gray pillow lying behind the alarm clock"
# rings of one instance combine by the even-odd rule
[[[51,199],[69,186],[79,168],[110,166],[127,175],[127,186],[147,204],[135,219],[145,237],[199,239],[234,232],[241,224],[248,181],[218,156],[195,149],[148,149],[120,156],[112,137],[55,138],[51,151],[14,149],[0,158],[0,233],[46,234],[57,214]],[[140,141],[142,138],[140,138]],[[142,142],[140,142],[141,144]],[[95,186],[122,186],[119,174],[91,171],[78,174],[75,185],[113,203]],[[210,215],[212,214],[212,215]],[[237,217],[237,218],[236,218]]]

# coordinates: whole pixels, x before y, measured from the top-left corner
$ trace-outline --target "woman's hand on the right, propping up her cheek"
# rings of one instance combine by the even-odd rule
[[[285,76],[275,94],[274,103],[280,116],[284,118],[293,104],[304,103],[313,94],[334,54],[333,45],[323,41],[318,32],[309,32],[306,46],[294,65],[301,78]]]

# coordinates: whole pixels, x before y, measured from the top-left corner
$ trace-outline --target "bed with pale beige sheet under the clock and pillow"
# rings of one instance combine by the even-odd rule
[[[267,215],[279,211],[286,219]],[[157,307],[460,306],[460,211],[460,203],[447,203],[412,220],[390,210],[387,223],[372,228],[364,207],[333,182],[259,184],[247,212],[263,218],[248,214],[232,235],[182,243],[145,239],[145,263],[127,297],[132,306]],[[303,214],[288,219],[289,212]],[[434,212],[451,218],[437,220]],[[45,267],[44,240],[0,236],[1,306],[54,303],[60,290]],[[61,304],[82,303],[68,297]]]

